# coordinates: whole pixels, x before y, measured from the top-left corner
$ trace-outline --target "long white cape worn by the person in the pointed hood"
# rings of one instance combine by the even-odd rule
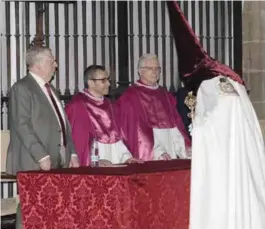
[[[265,229],[265,150],[245,87],[204,81],[192,131],[190,229]],[[229,86],[228,85],[228,86]]]

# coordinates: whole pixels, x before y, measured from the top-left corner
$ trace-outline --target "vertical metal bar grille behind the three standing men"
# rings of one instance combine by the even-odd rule
[[[238,25],[242,20],[242,7],[237,7],[241,2],[181,0],[178,3],[206,51],[241,73],[242,27],[234,27],[234,23]],[[8,129],[8,91],[24,76],[25,53],[21,50],[28,48],[36,34],[36,6],[34,2],[0,4],[5,17],[1,32],[1,129]],[[64,103],[83,89],[83,71],[92,63],[106,65],[113,82],[113,95],[118,82],[123,85],[135,82],[138,59],[146,52],[155,53],[160,59],[161,85],[172,91],[177,89],[177,53],[165,2],[127,1],[123,14],[118,10],[119,4],[116,1],[44,3],[45,43],[59,65],[53,83]],[[122,19],[127,21],[126,32],[117,22]],[[126,37],[123,56],[119,54],[121,34]],[[123,66],[121,60],[128,63]]]

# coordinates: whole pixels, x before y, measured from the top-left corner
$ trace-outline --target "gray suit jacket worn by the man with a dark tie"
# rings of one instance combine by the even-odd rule
[[[71,154],[76,152],[66,115],[65,120],[67,167]],[[18,171],[39,170],[39,160],[47,155],[50,155],[52,168],[60,166],[61,128],[49,100],[30,74],[18,80],[11,88],[9,121],[7,173],[16,175]]]

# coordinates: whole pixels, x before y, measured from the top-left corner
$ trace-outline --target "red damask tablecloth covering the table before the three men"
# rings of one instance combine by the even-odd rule
[[[24,229],[188,229],[190,161],[18,173]]]

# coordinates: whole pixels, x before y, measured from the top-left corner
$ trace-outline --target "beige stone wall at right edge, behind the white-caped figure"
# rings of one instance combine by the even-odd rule
[[[235,25],[236,26],[236,25]],[[265,2],[245,1],[243,77],[265,136]]]

